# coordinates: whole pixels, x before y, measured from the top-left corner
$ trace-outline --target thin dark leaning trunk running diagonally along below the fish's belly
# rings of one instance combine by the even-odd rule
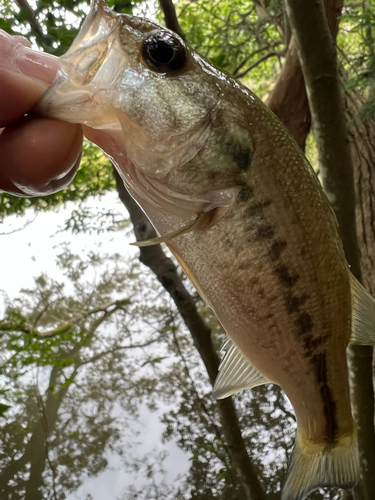
[[[127,192],[124,183],[114,169],[117,192],[129,212],[137,240],[154,238],[156,232],[141,208]],[[186,290],[173,261],[167,257],[160,245],[141,247],[139,260],[149,267],[158,281],[169,293],[189,329],[206,367],[213,385],[218,373],[219,357],[211,338],[211,329],[200,316],[193,297]],[[256,468],[250,460],[241,435],[236,409],[232,398],[217,401],[223,434],[227,443],[232,463],[241,479],[247,500],[266,500],[266,493],[258,478]]]

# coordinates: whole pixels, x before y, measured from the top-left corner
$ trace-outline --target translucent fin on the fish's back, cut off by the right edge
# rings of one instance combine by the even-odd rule
[[[351,344],[375,345],[375,300],[351,275],[352,334]]]

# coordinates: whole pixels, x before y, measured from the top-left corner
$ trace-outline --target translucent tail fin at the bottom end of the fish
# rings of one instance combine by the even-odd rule
[[[281,500],[303,500],[320,486],[353,488],[358,480],[356,435],[343,437],[332,446],[305,445],[297,436]]]

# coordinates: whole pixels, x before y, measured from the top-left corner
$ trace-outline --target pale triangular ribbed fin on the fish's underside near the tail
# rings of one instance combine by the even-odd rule
[[[227,398],[235,392],[270,383],[229,338],[225,340],[221,351],[225,354],[212,391],[215,399]]]

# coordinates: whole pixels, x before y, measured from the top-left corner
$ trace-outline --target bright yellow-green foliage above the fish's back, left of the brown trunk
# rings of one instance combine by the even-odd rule
[[[177,12],[188,42],[216,66],[260,94],[269,90],[280,71],[284,42],[279,25],[284,16],[281,0],[263,9],[245,2],[178,2]],[[251,78],[248,71],[251,70]]]

